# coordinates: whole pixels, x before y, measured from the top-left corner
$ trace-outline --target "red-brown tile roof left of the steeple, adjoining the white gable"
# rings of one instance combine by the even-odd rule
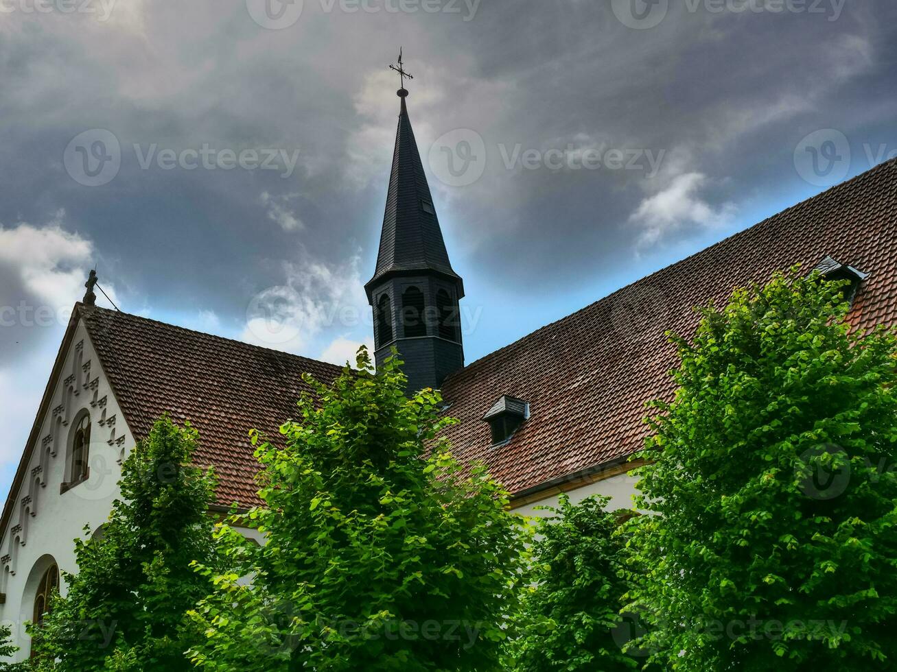
[[[248,441],[256,428],[272,439],[296,417],[301,375],[320,381],[340,367],[237,340],[191,332],[104,308],[78,306],[103,371],[135,439],[168,413],[199,431],[196,461],[213,464],[218,503],[257,504],[258,464]]]

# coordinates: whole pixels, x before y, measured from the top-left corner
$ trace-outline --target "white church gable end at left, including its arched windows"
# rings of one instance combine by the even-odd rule
[[[75,572],[72,539],[96,529],[118,496],[120,464],[134,445],[76,306],[6,500],[0,540],[4,620],[34,615],[34,580]],[[65,587],[63,587],[65,588]],[[31,594],[35,593],[35,594]],[[28,638],[15,633],[27,653]]]

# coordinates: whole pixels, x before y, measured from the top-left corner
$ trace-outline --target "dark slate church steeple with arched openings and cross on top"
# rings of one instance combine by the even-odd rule
[[[393,67],[393,66],[390,66]],[[393,68],[409,77],[399,66]],[[378,365],[393,346],[405,360],[409,392],[438,388],[464,366],[458,300],[464,283],[448,261],[440,222],[423,173],[408,118],[405,87],[389,176],[377,267],[364,286],[374,309],[374,354]]]

